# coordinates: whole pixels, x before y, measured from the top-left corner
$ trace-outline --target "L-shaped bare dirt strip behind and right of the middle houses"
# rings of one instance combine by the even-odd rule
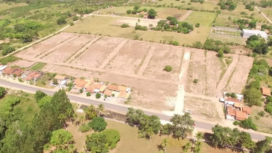
[[[116,74],[97,73],[69,67],[48,64],[43,68],[44,72],[67,74],[74,77],[98,78],[100,81],[123,84],[133,88],[132,102],[130,105],[156,110],[169,110],[164,102],[167,97],[175,97],[178,90],[177,84],[158,83],[145,79],[134,79]]]

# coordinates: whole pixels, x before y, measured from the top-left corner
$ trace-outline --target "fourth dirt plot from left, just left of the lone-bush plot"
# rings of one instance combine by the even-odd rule
[[[137,74],[146,55],[151,51],[150,46],[149,42],[128,40],[118,54],[108,62],[105,69]]]

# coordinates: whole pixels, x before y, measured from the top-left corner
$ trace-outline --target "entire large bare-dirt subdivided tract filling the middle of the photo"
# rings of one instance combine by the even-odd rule
[[[25,67],[42,62],[44,72],[126,85],[133,88],[131,105],[157,110],[172,107],[167,101],[177,97],[179,86],[196,95],[214,96],[227,89],[239,93],[253,62],[243,55],[219,59],[215,52],[197,48],[78,33],[60,33],[16,56],[22,58],[20,66],[23,61]],[[166,65],[172,67],[171,72],[163,70]],[[192,101],[187,100],[184,108]],[[195,111],[199,110],[203,109]]]

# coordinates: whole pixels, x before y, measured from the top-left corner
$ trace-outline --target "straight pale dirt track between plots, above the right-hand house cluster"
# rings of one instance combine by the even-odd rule
[[[225,72],[224,76],[222,77],[219,84],[217,85],[217,88],[215,90],[217,92],[216,94],[220,94],[221,90],[223,90],[224,87],[226,86],[229,77],[231,76],[232,72],[234,71],[235,67],[238,64],[238,61],[239,61],[238,58],[239,57],[236,57],[236,56],[233,57],[233,61],[231,62],[231,64],[229,64],[227,71]]]

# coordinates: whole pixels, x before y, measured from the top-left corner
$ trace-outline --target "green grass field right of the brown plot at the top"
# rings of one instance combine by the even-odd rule
[[[216,13],[193,11],[185,21],[189,23],[200,23],[200,26],[211,27]]]

